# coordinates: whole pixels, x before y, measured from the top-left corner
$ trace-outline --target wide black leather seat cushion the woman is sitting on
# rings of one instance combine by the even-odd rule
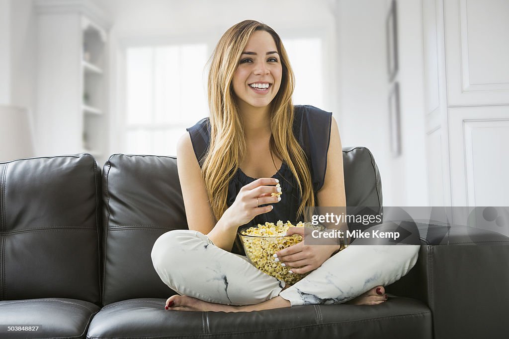
[[[374,306],[306,305],[260,312],[164,310],[165,299],[130,299],[106,305],[88,338],[431,338],[431,311],[410,298]]]

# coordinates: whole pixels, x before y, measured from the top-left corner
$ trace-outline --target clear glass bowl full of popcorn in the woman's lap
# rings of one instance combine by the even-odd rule
[[[283,223],[279,220],[275,225],[274,223],[265,223],[265,225],[258,224],[254,227],[242,227],[239,229],[238,235],[244,246],[244,252],[254,267],[278,280],[293,285],[310,272],[290,273],[292,268],[297,267],[283,266],[281,262],[276,261],[275,253],[302,241],[302,236],[299,234],[285,235],[290,227],[323,229],[322,226],[313,226],[311,223],[298,222],[293,225],[289,221]]]

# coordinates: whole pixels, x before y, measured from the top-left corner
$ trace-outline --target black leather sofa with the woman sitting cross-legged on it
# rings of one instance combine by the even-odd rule
[[[347,204],[382,206],[371,152],[343,156]],[[150,252],[159,235],[186,228],[173,157],[117,154],[102,174],[87,154],[0,163],[0,337],[506,336],[509,238],[499,233],[455,226],[444,243],[443,226],[419,230],[417,264],[380,305],[166,311],[175,292]]]

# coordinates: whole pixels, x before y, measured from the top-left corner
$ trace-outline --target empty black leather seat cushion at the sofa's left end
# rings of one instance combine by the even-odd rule
[[[100,307],[88,301],[44,298],[0,301],[0,337],[84,338]],[[35,325],[37,331],[9,333],[6,325]]]

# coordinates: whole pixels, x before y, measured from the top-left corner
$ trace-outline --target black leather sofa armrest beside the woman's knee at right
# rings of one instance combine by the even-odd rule
[[[387,292],[427,303],[435,338],[506,335],[509,238],[459,225],[418,229],[419,259]]]

